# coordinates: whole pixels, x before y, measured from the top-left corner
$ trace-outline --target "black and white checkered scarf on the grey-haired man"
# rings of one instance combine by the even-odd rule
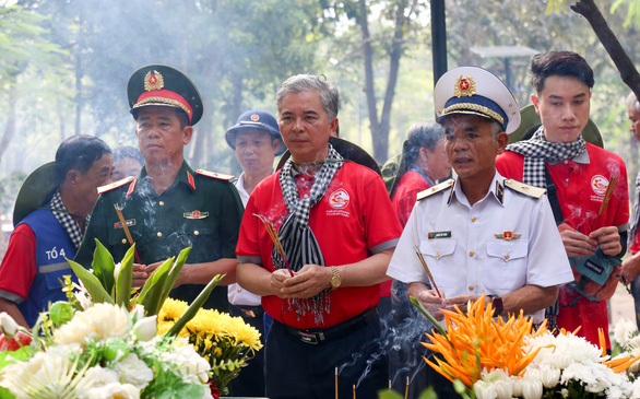
[[[324,197],[329,184],[343,165],[343,157],[331,144],[328,145],[329,154],[320,171],[313,176],[313,186],[311,186],[311,191],[308,197],[299,198],[298,187],[294,179],[294,163],[292,159],[284,164],[278,176],[280,187],[289,214],[280,226],[277,236],[293,271],[299,271],[305,265],[325,266],[322,250],[318,245],[313,232],[309,227],[309,212]],[[285,267],[282,257],[275,248],[271,257],[275,269]],[[289,310],[292,310],[293,304],[298,318],[300,315],[306,315],[307,312],[312,312],[316,325],[322,325],[323,314],[325,312],[329,313],[331,305],[328,292],[329,290],[324,290],[318,295],[306,300],[291,300]]]

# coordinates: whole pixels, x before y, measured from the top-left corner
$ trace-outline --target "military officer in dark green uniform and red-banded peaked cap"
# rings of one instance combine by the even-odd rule
[[[185,161],[183,148],[202,117],[200,94],[186,75],[146,66],[131,75],[127,92],[145,166],[138,177],[100,188],[75,261],[91,267],[96,238],[119,261],[131,239],[138,253],[133,283],[142,285],[162,261],[192,246],[170,294],[191,303],[215,274],[226,273],[222,285],[236,281],[242,203],[232,176],[194,171]],[[228,310],[226,286],[216,287],[204,307]]]

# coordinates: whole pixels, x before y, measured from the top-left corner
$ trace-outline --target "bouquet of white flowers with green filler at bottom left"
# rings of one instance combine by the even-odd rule
[[[155,336],[155,318],[144,317],[141,305],[81,312],[55,303],[36,322],[31,347],[5,352],[22,360],[4,359],[0,386],[19,399],[211,398],[209,363],[191,347]]]

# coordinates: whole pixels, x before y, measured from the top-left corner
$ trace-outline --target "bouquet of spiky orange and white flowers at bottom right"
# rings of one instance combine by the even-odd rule
[[[639,357],[609,360],[604,349],[565,330],[554,336],[546,324],[535,331],[522,313],[494,319],[484,295],[466,312],[442,310],[446,330],[415,300],[412,303],[438,331],[423,343],[439,356],[434,367],[466,398],[629,398],[632,384],[625,373]],[[458,388],[457,388],[458,389]]]

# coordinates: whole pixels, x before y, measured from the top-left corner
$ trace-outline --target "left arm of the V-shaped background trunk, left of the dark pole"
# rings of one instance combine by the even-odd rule
[[[381,159],[380,142],[381,131],[380,124],[378,122],[378,107],[376,105],[376,90],[374,87],[374,56],[371,49],[371,37],[369,35],[369,22],[367,21],[367,1],[358,0],[360,5],[359,24],[363,33],[363,54],[365,57],[365,93],[367,94],[367,108],[369,112],[369,129],[371,130],[371,140],[374,142],[374,159],[378,162],[383,162]],[[387,149],[384,149],[384,154]]]

